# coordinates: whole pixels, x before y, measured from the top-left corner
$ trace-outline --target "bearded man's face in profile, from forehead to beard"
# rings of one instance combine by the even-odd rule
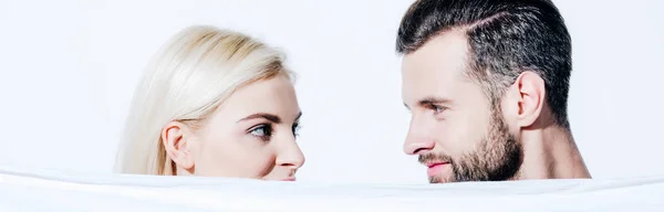
[[[522,160],[498,105],[464,74],[467,50],[461,33],[448,32],[403,59],[404,151],[419,156],[432,183],[508,180]]]

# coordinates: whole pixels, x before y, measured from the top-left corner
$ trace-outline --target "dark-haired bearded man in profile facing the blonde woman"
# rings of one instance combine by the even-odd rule
[[[429,182],[591,178],[567,115],[571,41],[549,0],[419,0],[398,29],[404,151]]]

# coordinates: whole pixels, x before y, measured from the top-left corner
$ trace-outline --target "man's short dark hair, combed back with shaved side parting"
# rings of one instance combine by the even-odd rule
[[[544,81],[554,120],[569,129],[571,38],[550,0],[418,0],[402,19],[396,51],[412,53],[453,30],[466,34],[466,73],[485,88],[491,104],[523,71],[532,71]]]

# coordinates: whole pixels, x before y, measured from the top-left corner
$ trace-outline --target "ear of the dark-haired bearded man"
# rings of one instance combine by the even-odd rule
[[[519,91],[519,113],[517,116],[520,127],[535,124],[546,104],[544,81],[535,72],[526,71],[515,82]]]

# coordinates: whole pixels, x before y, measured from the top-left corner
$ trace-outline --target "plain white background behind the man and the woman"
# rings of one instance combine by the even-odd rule
[[[426,183],[402,152],[398,21],[412,1],[0,1],[0,165],[111,172],[133,89],[190,24],[257,36],[300,74],[307,181]],[[572,130],[594,178],[664,174],[664,1],[556,0]],[[660,14],[657,14],[660,13]]]

